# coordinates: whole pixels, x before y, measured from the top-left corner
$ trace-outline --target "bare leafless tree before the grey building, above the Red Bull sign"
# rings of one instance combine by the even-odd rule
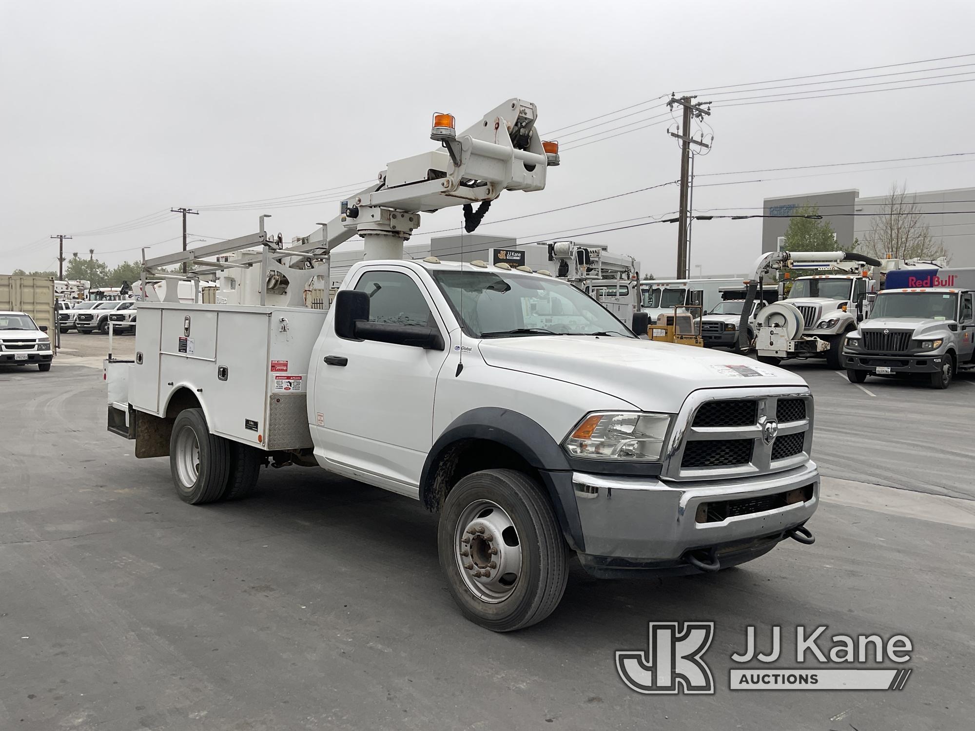
[[[873,215],[863,251],[878,259],[887,254],[896,259],[951,258],[944,245],[931,236],[917,196],[908,194],[907,183],[901,186],[896,182]]]

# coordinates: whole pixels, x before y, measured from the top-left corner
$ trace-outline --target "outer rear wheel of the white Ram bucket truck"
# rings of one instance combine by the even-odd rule
[[[230,443],[210,433],[202,408],[186,408],[176,415],[170,472],[179,499],[190,505],[212,503],[226,491]]]

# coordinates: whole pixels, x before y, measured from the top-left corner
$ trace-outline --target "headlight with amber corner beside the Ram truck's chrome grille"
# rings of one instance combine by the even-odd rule
[[[587,459],[660,459],[671,416],[665,413],[594,413],[565,438],[565,450]]]

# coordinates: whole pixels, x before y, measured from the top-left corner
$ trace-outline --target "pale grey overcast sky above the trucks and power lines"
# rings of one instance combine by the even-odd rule
[[[154,225],[65,242],[68,256],[94,249],[116,264],[136,259],[138,248],[151,244],[150,255],[178,250],[179,216],[151,217],[171,207],[349,191],[342,186],[373,179],[389,161],[429,149],[434,111],[453,113],[463,128],[517,96],[538,105],[537,127],[545,136],[671,92],[973,54],[973,28],[970,0],[0,0],[0,272],[57,269],[52,234],[80,234],[146,216],[136,223]],[[975,80],[975,74],[947,76],[975,68],[944,69],[965,63],[975,57],[846,74],[832,77],[831,85],[801,89],[935,75],[945,76],[915,83]],[[942,70],[848,80],[923,68]],[[723,108],[718,103],[799,89],[702,94],[715,101],[708,119],[715,139],[711,153],[697,159],[696,173],[975,152],[968,134],[975,84]],[[639,113],[612,121],[634,111]],[[565,148],[579,138],[579,146],[565,149],[544,191],[502,195],[478,233],[533,241],[676,211],[678,188],[670,185],[488,225],[492,218],[676,179],[680,153],[666,134],[669,118],[609,137],[620,132],[612,128],[630,123],[621,131],[632,130],[661,111],[647,103],[553,135]],[[604,125],[581,129],[598,122]],[[583,146],[593,140],[602,141]],[[895,180],[912,190],[975,184],[975,156],[947,160],[826,174],[812,169],[698,177],[694,208],[755,208],[765,197],[843,188],[880,195]],[[764,181],[704,186],[759,177]],[[768,179],[774,177],[784,179]],[[337,212],[337,203],[321,202],[329,195],[318,194],[313,205],[286,201],[287,208],[201,212],[190,216],[189,230],[197,235],[191,238],[251,233],[257,215],[269,212],[269,227],[288,241]],[[459,220],[457,209],[426,215],[413,242],[425,241],[423,230],[457,226]],[[673,276],[674,224],[553,238],[604,243],[637,256],[644,271]],[[759,250],[761,221],[694,226],[691,263],[700,264],[703,274],[744,272]]]

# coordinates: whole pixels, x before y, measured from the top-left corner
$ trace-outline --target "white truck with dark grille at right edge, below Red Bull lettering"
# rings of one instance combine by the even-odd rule
[[[923,373],[948,388],[958,368],[975,366],[975,292],[884,289],[870,318],[846,335],[843,365],[852,383],[869,374]]]

